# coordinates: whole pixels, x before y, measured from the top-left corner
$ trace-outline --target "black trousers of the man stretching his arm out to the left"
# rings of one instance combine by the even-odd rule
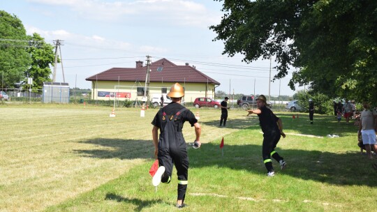
[[[274,172],[271,157],[274,158],[277,162],[283,160],[283,158],[279,156],[279,153],[275,151],[280,137],[281,135],[279,131],[265,132],[263,134],[262,157],[268,172]]]

